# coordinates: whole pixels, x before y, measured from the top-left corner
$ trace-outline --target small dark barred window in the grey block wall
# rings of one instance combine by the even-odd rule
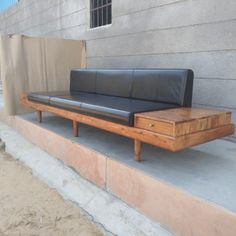
[[[90,0],[90,28],[111,24],[111,1],[112,0]]]

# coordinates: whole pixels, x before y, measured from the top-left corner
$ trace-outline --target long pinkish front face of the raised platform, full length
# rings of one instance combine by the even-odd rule
[[[50,155],[73,167],[84,178],[179,235],[235,236],[235,200],[230,203],[232,210],[226,209],[211,199],[200,198],[175,186],[174,181],[163,181],[158,177],[158,173],[156,177],[150,176],[150,173],[142,171],[141,168],[135,168],[136,164],[131,165],[122,159],[115,160],[109,154],[97,152],[24,117],[7,118],[5,122]],[[130,158],[132,160],[132,156]],[[202,159],[199,159],[200,161]],[[211,166],[209,171],[210,168]]]

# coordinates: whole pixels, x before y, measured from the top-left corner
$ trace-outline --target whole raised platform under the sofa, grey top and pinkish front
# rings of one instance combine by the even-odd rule
[[[2,117],[4,118],[4,117]],[[133,141],[71,121],[36,114],[5,117],[30,142],[122,199],[169,231],[183,236],[235,236],[236,144],[215,140],[171,153],[143,145],[133,160]]]

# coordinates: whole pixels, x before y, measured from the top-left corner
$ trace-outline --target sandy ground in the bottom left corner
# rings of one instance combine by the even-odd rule
[[[0,235],[103,235],[80,209],[0,152]]]

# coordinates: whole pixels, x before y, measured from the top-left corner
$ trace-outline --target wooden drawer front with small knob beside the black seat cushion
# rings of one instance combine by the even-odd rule
[[[155,121],[144,117],[135,117],[134,126],[140,129],[149,130],[159,134],[173,136],[174,128],[172,123]]]

